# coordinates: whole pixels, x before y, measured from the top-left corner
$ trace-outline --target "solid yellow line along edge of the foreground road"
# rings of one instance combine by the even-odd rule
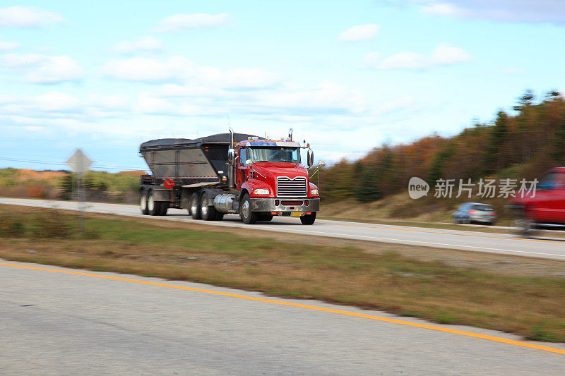
[[[20,267],[20,268],[23,268],[23,269],[43,270],[45,272],[77,274],[77,275],[82,275],[82,276],[87,276],[87,277],[115,279],[117,281],[134,282],[136,284],[149,284],[149,285],[153,285],[153,286],[169,287],[169,288],[172,288],[172,289],[198,291],[198,292],[201,292],[201,293],[213,293],[215,295],[230,296],[232,298],[246,299],[246,300],[249,300],[249,301],[260,301],[260,302],[263,302],[263,303],[290,305],[292,307],[305,308],[305,309],[308,309],[308,310],[319,310],[319,311],[323,311],[323,312],[337,313],[339,315],[346,315],[346,316],[353,316],[353,317],[363,317],[363,318],[370,319],[370,320],[392,322],[394,324],[400,324],[400,325],[408,325],[410,327],[420,327],[420,328],[424,328],[424,329],[438,330],[440,332],[460,334],[460,335],[463,335],[463,336],[472,336],[472,337],[475,337],[475,338],[487,339],[489,341],[502,342],[504,344],[511,344],[511,345],[514,345],[514,346],[523,346],[523,347],[528,347],[528,348],[535,348],[537,350],[549,351],[549,352],[552,352],[552,353],[559,353],[559,354],[565,355],[565,350],[561,350],[559,348],[553,348],[553,347],[549,347],[549,346],[541,346],[541,345],[536,345],[536,344],[528,344],[527,342],[514,341],[513,339],[506,339],[506,338],[501,338],[501,337],[497,337],[497,336],[489,336],[489,335],[486,335],[486,334],[477,334],[477,333],[472,333],[472,332],[465,332],[463,330],[450,329],[450,328],[446,328],[446,327],[437,327],[435,325],[421,324],[419,322],[409,322],[409,321],[391,319],[391,318],[388,318],[388,317],[379,317],[379,316],[374,316],[374,315],[365,315],[364,313],[349,312],[349,311],[346,311],[346,310],[334,310],[332,308],[316,307],[315,305],[290,303],[290,302],[285,302],[285,301],[275,301],[273,299],[265,299],[265,298],[254,298],[252,296],[244,296],[244,295],[239,295],[237,293],[224,293],[224,292],[221,292],[221,291],[212,291],[212,290],[206,290],[206,289],[195,289],[194,287],[177,286],[177,285],[174,285],[174,284],[161,284],[161,283],[158,283],[158,282],[141,281],[139,279],[129,279],[129,278],[122,278],[122,277],[112,277],[112,276],[106,276],[106,275],[101,275],[101,274],[71,272],[69,270],[47,269],[47,268],[43,268],[43,267],[30,267],[30,266],[27,266],[27,265],[6,264],[4,262],[0,262],[0,265],[6,266],[6,267]]]

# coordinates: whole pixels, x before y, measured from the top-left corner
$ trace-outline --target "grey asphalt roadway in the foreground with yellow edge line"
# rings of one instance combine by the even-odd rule
[[[565,346],[184,281],[0,260],[1,375],[565,375]]]

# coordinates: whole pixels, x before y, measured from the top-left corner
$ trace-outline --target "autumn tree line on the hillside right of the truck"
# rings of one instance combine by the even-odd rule
[[[551,91],[536,99],[526,90],[513,114],[499,110],[489,123],[476,122],[458,135],[429,135],[414,142],[375,147],[357,161],[323,169],[323,199],[379,200],[405,190],[412,176],[434,186],[439,178],[539,178],[565,165],[565,99]]]

